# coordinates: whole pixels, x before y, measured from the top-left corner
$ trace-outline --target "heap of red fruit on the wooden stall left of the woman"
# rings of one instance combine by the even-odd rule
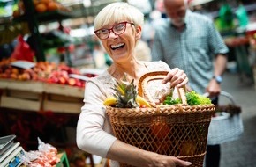
[[[65,64],[54,62],[37,62],[31,69],[22,69],[11,65],[15,59],[4,59],[0,62],[0,78],[16,79],[20,81],[42,81],[55,84],[68,84],[84,87],[85,81],[72,78],[70,74],[81,75],[79,69],[71,68]]]

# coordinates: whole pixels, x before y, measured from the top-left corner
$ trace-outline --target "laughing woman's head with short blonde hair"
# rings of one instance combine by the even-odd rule
[[[124,22],[124,33],[120,28],[122,26],[113,27]],[[124,64],[135,57],[135,47],[141,38],[143,23],[144,15],[138,8],[127,3],[113,3],[103,8],[94,18],[94,33],[114,63]]]

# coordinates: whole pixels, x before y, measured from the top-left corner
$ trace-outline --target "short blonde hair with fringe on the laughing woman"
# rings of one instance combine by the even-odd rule
[[[105,6],[94,19],[94,29],[98,30],[110,22],[129,21],[135,25],[144,24],[144,14],[138,8],[127,3],[112,3]]]

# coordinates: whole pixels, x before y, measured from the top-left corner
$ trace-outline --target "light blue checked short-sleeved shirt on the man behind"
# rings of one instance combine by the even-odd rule
[[[187,11],[185,23],[182,32],[169,19],[156,28],[152,59],[167,62],[171,69],[183,69],[192,90],[203,94],[214,75],[215,55],[229,50],[210,18]]]

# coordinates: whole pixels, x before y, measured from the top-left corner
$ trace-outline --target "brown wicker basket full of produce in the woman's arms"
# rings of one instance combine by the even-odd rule
[[[147,84],[162,80],[166,71],[150,72],[139,80],[139,95],[152,98]],[[179,93],[186,104],[184,90]],[[185,100],[185,101],[184,101]],[[215,105],[161,105],[152,108],[106,109],[114,135],[120,141],[162,155],[177,156],[202,167],[206,154],[208,126]],[[120,166],[129,166],[120,163]]]

